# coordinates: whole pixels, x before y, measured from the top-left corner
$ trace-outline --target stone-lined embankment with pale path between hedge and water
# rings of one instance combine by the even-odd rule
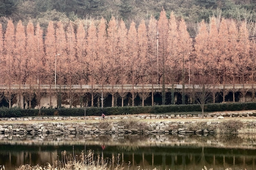
[[[0,133],[27,134],[191,134],[216,133],[220,119],[250,117],[246,127],[254,128],[256,111],[210,113],[205,115],[115,115],[101,117],[1,118]],[[201,118],[201,119],[200,119]],[[234,118],[235,120],[236,118]],[[199,121],[200,120],[200,121]]]

